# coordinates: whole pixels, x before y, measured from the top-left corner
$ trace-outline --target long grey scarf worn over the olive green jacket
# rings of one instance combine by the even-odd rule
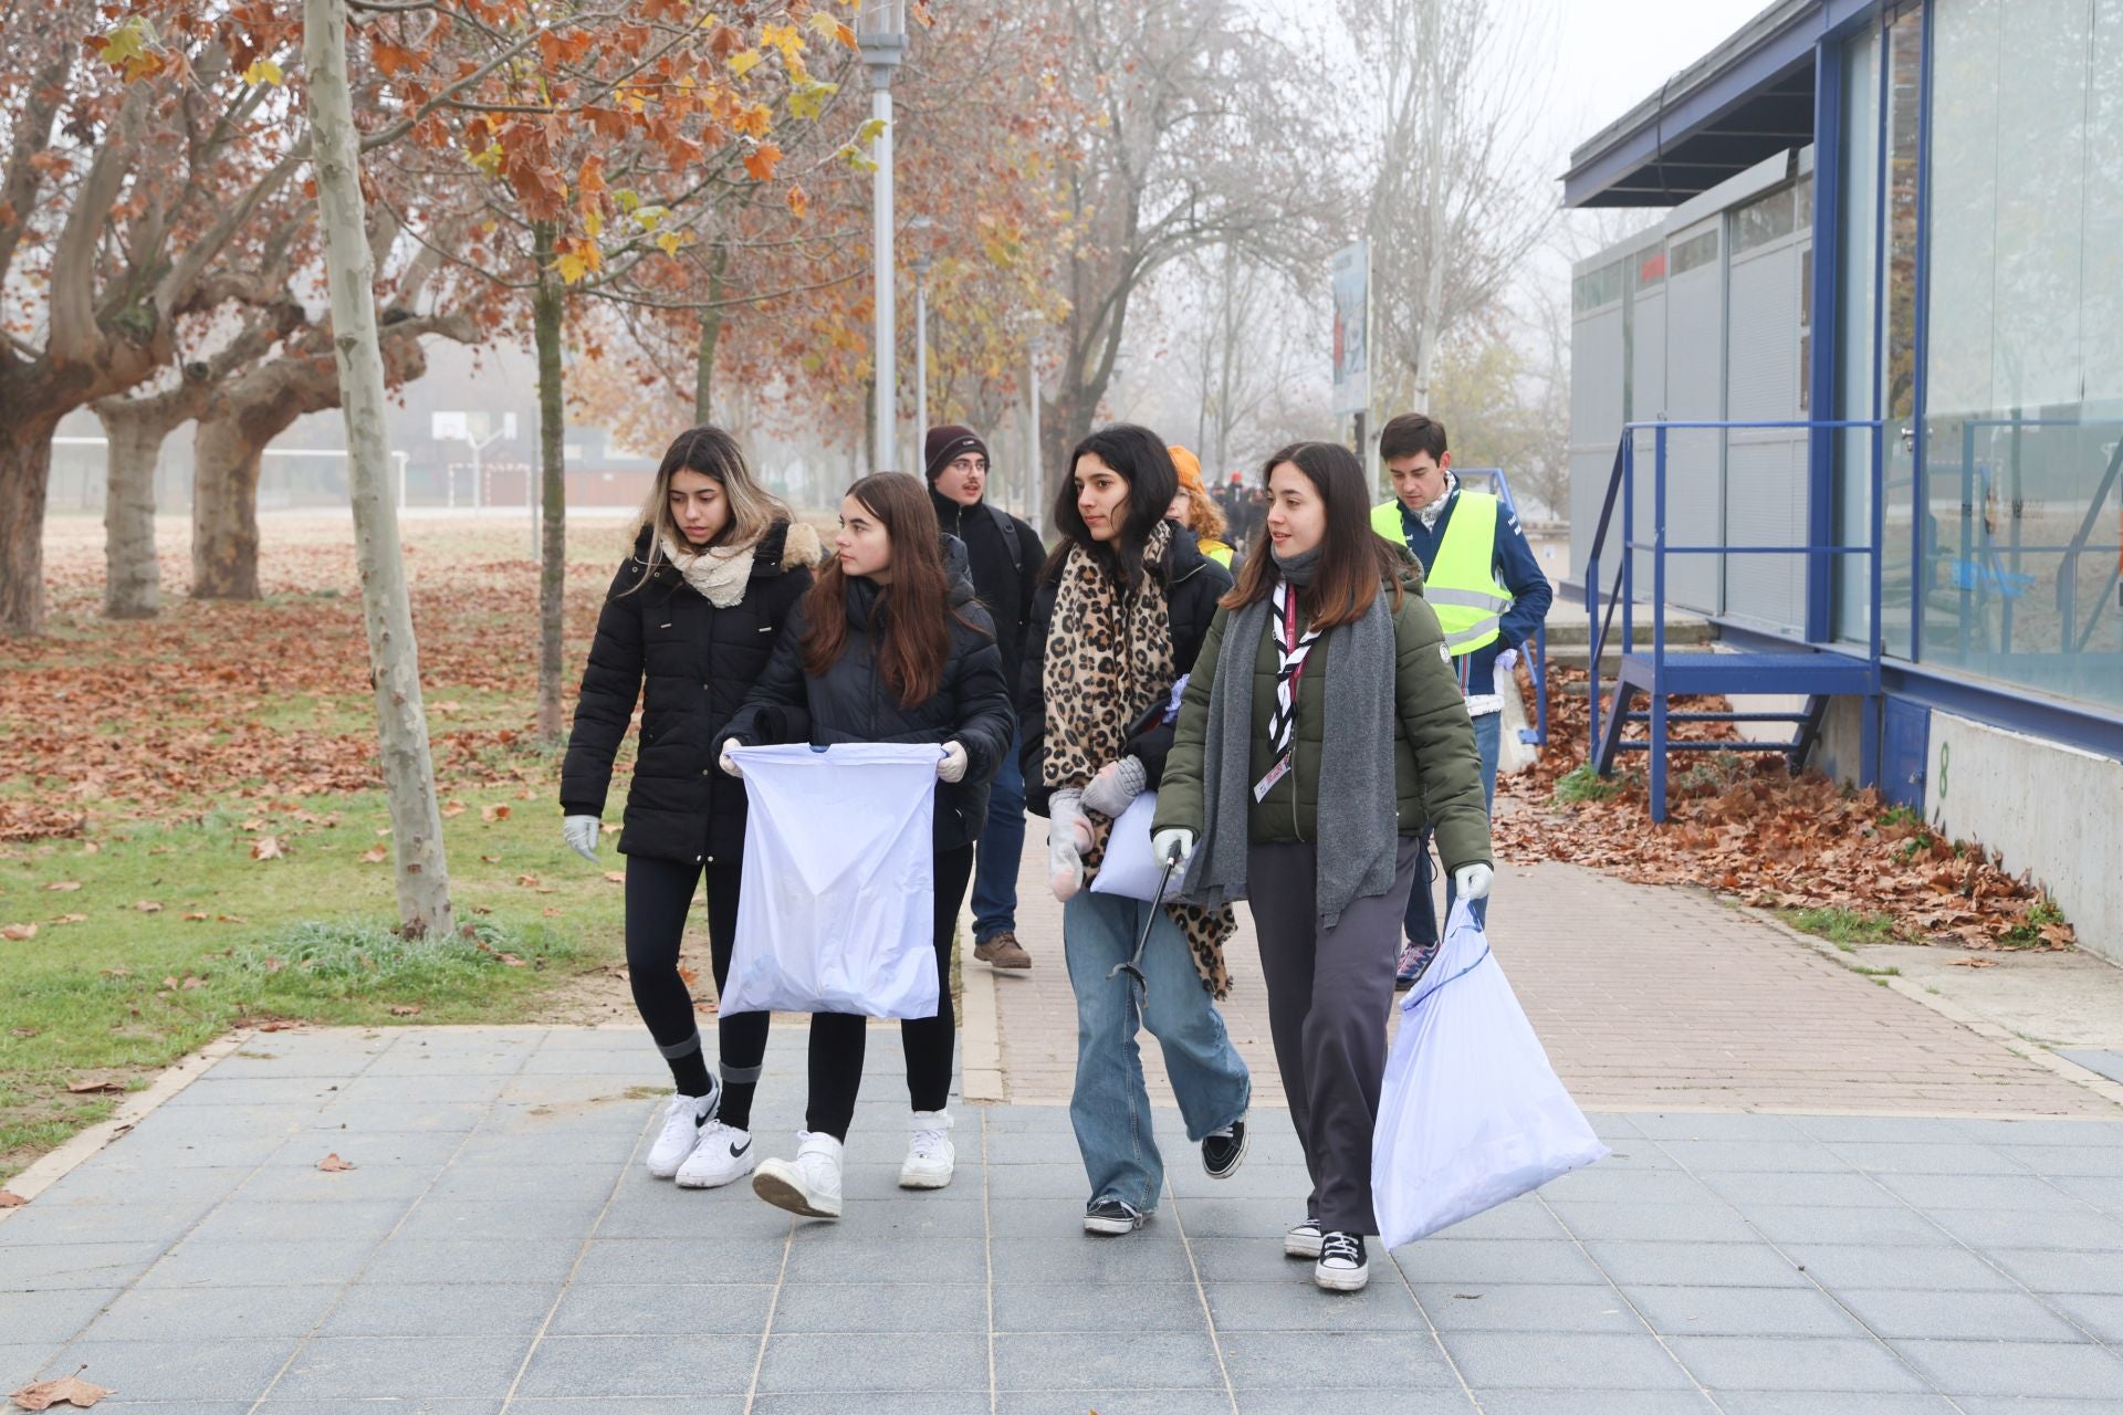
[[[1276,556],[1293,588],[1312,583],[1318,549]],[[1318,885],[1314,912],[1333,927],[1352,899],[1393,889],[1399,802],[1393,779],[1395,641],[1382,588],[1354,624],[1327,630],[1312,664],[1327,675],[1318,781]],[[1253,808],[1253,662],[1267,632],[1263,596],[1223,628],[1202,757],[1202,844],[1187,870],[1187,899],[1231,904],[1246,895],[1246,817]]]

